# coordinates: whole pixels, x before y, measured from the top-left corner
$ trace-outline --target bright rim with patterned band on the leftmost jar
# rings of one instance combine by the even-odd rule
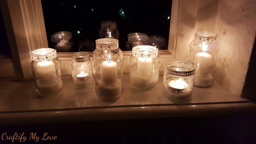
[[[57,51],[53,48],[39,48],[30,52],[33,61],[51,60],[57,57]]]

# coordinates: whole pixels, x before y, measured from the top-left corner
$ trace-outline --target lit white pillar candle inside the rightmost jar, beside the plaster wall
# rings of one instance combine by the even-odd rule
[[[195,54],[195,77],[208,77],[211,69],[212,55],[206,52]]]

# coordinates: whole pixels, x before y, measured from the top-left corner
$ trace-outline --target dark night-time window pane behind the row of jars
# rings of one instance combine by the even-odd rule
[[[172,0],[154,2],[146,0],[114,0],[111,2],[105,0],[42,0],[41,2],[48,44],[51,48],[54,48],[58,42],[63,44],[66,42],[59,38],[52,38],[52,41],[55,40],[55,44],[53,44],[51,35],[59,31],[70,31],[73,47],[69,51],[79,51],[82,46],[87,47],[83,51],[93,51],[90,48],[90,43],[95,45],[95,40],[99,39],[101,21],[116,21],[116,27],[119,30],[119,47],[123,51],[130,50],[126,46],[128,44],[127,34],[135,32],[145,33],[148,36],[161,36],[160,42],[163,44],[160,44],[161,48],[159,49],[167,49]],[[115,33],[112,32],[111,35],[107,31],[106,37],[113,36]],[[66,38],[69,39],[68,36]],[[159,38],[156,41],[159,41]],[[63,47],[63,44],[60,46]],[[67,46],[69,47],[69,44]]]

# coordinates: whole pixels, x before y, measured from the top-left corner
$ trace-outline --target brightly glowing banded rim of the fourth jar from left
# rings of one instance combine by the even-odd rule
[[[158,48],[149,45],[139,45],[133,47],[132,55],[134,57],[154,58],[158,56]]]

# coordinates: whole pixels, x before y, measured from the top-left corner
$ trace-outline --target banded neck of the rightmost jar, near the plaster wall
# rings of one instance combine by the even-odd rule
[[[197,32],[195,33],[195,40],[214,42],[217,40],[218,35],[213,32]]]

